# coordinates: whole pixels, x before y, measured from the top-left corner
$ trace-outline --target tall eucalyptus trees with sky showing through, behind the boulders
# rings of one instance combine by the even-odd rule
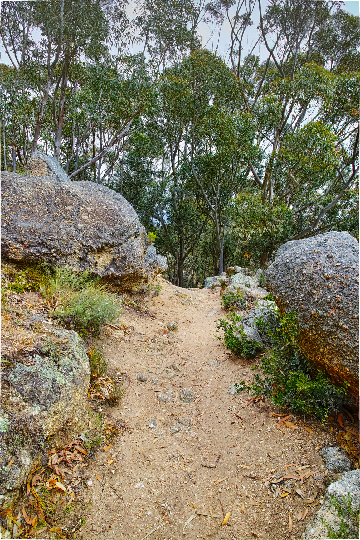
[[[323,0],[130,11],[2,3],[2,170],[40,149],[121,193],[182,287],[289,239],[358,238],[358,16]]]

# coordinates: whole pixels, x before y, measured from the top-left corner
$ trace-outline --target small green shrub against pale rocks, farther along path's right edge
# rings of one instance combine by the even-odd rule
[[[254,356],[261,343],[249,340],[242,328],[235,326],[237,322],[242,320],[242,317],[236,315],[236,313],[230,313],[230,315],[225,316],[226,319],[219,319],[216,321],[216,328],[224,330],[224,337],[221,338],[215,334],[215,338],[219,340],[223,339],[226,348],[231,349],[233,353],[239,356]]]

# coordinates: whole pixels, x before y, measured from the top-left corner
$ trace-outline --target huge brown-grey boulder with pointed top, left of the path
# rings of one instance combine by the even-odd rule
[[[4,258],[90,269],[114,292],[130,291],[167,267],[121,195],[71,181],[54,158],[34,156],[27,167],[32,174],[1,175]]]

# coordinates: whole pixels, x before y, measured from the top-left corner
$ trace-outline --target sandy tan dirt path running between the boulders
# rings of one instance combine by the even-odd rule
[[[324,476],[317,450],[334,443],[336,431],[312,421],[314,435],[286,427],[283,434],[270,414],[278,412],[270,402],[248,405],[245,393],[234,398],[227,392],[231,382],[250,382],[252,372],[248,362],[236,359],[214,338],[215,321],[224,315],[220,301],[205,289],[189,291],[162,281],[152,308],[156,319],[128,308],[123,323],[133,332],[121,338],[114,331],[104,340],[109,368],[129,372],[130,386],[117,407],[99,408],[114,420],[129,419],[131,429],[110,449],[99,451],[97,462],[86,469],[91,507],[79,538],[143,538],[163,523],[151,538],[300,538],[319,508],[308,507],[304,521],[297,522],[298,512],[305,509],[302,498],[275,497],[265,482],[275,481],[290,463],[308,464],[305,470],[320,470],[317,476]],[[168,340],[163,330],[171,320],[179,328]],[[217,367],[210,367],[214,360]],[[173,363],[181,371],[166,369]],[[148,380],[137,381],[139,373]],[[190,404],[179,399],[184,388],[195,395]],[[172,390],[174,397],[161,403],[159,390]],[[190,427],[181,426],[177,417],[183,423],[190,419]],[[172,433],[174,426],[181,429]],[[115,462],[108,465],[114,454]],[[216,468],[201,466],[214,465],[218,456]],[[296,468],[287,468],[286,474],[297,476]],[[305,500],[316,490],[315,503],[321,503],[325,485],[314,476],[299,487]],[[284,486],[297,487],[291,479]],[[231,516],[219,527],[223,511]],[[196,517],[183,534],[195,512],[218,517]]]

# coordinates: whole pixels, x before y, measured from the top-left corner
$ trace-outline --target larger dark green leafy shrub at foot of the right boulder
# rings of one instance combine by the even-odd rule
[[[308,360],[297,348],[298,324],[294,313],[280,319],[275,333],[268,331],[272,353],[263,357],[261,374],[256,374],[252,384],[238,384],[238,392],[246,390],[254,395],[270,397],[279,409],[289,407],[297,414],[309,414],[325,420],[329,411],[338,411],[345,403],[346,384],[336,387],[324,373],[310,376]],[[254,368],[257,369],[257,366]]]

